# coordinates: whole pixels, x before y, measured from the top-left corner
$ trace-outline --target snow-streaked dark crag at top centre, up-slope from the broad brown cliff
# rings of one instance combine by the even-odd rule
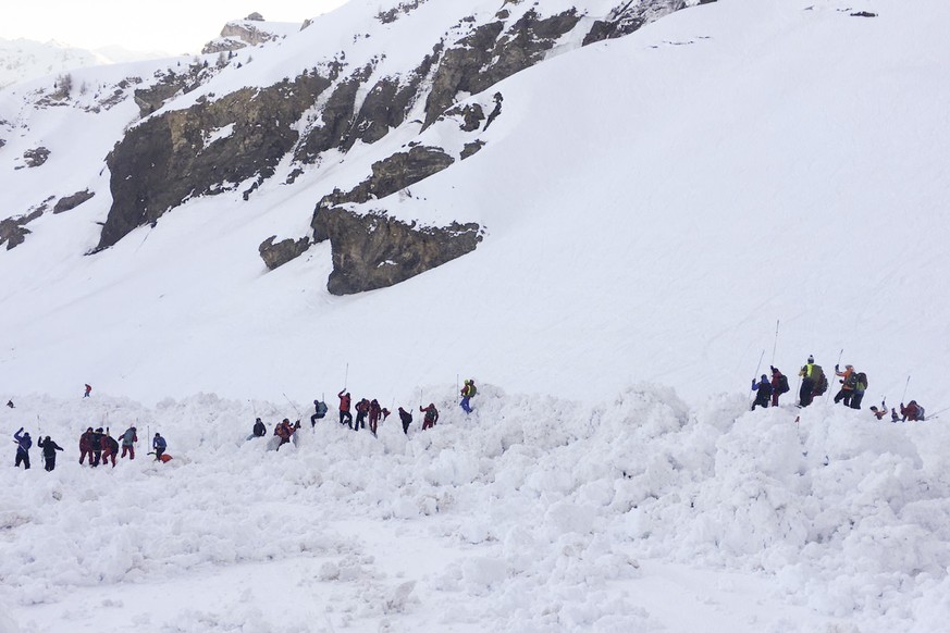
[[[576,9],[545,18],[532,10],[505,30],[504,36],[503,22],[476,28],[445,51],[425,101],[424,126],[432,125],[459,91],[476,95],[541,61],[579,21]]]

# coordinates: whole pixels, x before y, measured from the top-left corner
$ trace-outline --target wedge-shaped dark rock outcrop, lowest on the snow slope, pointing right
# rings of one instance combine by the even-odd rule
[[[326,283],[333,295],[398,284],[473,251],[482,239],[474,223],[419,228],[384,214],[359,215],[342,207],[321,211],[319,231],[330,237],[333,251],[333,272]]]

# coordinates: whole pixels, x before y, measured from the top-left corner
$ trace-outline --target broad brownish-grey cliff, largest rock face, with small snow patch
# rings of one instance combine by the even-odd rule
[[[97,250],[187,198],[272,175],[297,141],[295,122],[330,84],[305,74],[264,89],[243,88],[129,129],[107,158],[113,201]],[[206,146],[210,132],[230,125],[229,136]]]

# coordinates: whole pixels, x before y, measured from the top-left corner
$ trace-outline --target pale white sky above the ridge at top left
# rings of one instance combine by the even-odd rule
[[[304,22],[347,0],[20,0],[4,2],[0,37],[79,48],[198,52],[229,20],[257,11],[271,22]]]

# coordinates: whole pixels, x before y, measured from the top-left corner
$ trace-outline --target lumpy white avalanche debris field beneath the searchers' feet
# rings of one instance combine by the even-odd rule
[[[36,450],[34,469],[0,470],[0,599],[22,607],[305,557],[320,582],[358,594],[371,584],[398,605],[360,600],[362,618],[437,606],[480,630],[649,630],[650,613],[615,589],[650,558],[770,576],[785,601],[874,622],[862,631],[908,630],[911,613],[943,605],[950,469],[935,447],[950,437],[936,424],[824,401],[749,412],[744,398],[720,396],[690,410],[646,385],[593,409],[492,385],[468,417],[454,399],[435,402],[432,431],[417,413],[408,437],[393,417],[373,438],[331,409],[312,431],[305,415],[297,444],[273,451],[247,439],[254,418],[293,420],[301,407],[21,400],[4,427],[38,419],[28,430],[66,451],[52,473]],[[135,461],[76,463],[74,439],[100,424],[113,435],[137,426]],[[156,431],[168,464],[144,455]],[[367,578],[360,537],[335,526],[360,519],[411,525],[461,553],[412,587]]]

